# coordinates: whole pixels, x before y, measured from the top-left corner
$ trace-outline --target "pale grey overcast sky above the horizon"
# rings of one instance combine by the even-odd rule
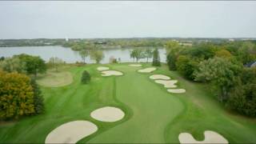
[[[0,38],[256,38],[256,2],[0,2]]]

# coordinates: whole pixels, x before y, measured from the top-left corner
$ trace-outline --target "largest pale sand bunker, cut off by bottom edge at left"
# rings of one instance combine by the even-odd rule
[[[67,122],[52,130],[46,137],[46,143],[76,143],[90,134],[94,134],[98,127],[89,121]]]

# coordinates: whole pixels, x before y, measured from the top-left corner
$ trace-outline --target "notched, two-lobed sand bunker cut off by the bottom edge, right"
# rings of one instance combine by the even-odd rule
[[[203,141],[197,141],[193,138],[193,136],[189,133],[181,133],[178,135],[178,140],[180,143],[228,143],[226,138],[222,137],[222,135],[206,130],[205,131],[205,139]]]

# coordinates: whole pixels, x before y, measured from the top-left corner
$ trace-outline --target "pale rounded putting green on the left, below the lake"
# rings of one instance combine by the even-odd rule
[[[68,71],[47,71],[43,78],[37,80],[38,84],[46,87],[67,86],[73,82],[73,76]]]

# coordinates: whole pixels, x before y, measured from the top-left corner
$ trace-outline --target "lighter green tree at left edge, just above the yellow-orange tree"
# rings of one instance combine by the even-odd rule
[[[0,68],[7,72],[26,73],[26,63],[19,58],[5,58],[0,62]]]

